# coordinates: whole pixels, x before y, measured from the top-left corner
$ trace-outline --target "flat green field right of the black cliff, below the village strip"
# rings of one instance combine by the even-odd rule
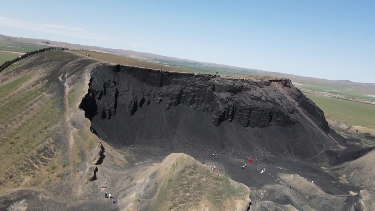
[[[324,115],[349,125],[375,128],[375,105],[305,93]]]

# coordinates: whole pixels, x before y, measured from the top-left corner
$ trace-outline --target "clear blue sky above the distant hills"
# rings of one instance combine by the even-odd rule
[[[18,0],[0,34],[375,83],[374,0]]]

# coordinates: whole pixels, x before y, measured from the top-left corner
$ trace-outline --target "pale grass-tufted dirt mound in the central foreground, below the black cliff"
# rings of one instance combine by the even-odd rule
[[[124,210],[246,210],[250,190],[183,153],[172,153],[143,173]],[[129,203],[131,202],[131,203]]]

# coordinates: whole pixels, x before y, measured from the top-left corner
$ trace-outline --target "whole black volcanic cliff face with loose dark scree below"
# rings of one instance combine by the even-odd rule
[[[320,110],[290,80],[100,64],[80,105],[115,146],[311,158],[335,146]]]

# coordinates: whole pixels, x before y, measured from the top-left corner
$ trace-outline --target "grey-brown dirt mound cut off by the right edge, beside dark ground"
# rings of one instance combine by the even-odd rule
[[[375,151],[332,168],[342,180],[375,191]]]

